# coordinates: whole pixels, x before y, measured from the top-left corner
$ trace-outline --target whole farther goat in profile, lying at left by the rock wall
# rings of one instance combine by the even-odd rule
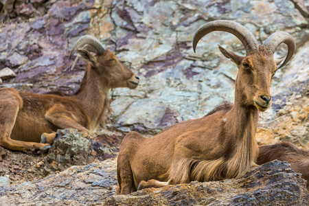
[[[93,56],[90,52],[95,52]],[[135,89],[139,78],[93,36],[82,36],[70,57],[87,62],[78,91],[35,94],[0,89],[0,146],[9,150],[49,150],[57,129],[76,128],[88,135],[107,116],[111,88]],[[74,63],[75,64],[75,63]],[[40,142],[41,141],[41,142]]]

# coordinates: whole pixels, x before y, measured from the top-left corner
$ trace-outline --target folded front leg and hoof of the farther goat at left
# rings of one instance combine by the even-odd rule
[[[65,129],[65,128],[76,128],[84,135],[89,135],[89,130],[82,126],[80,123],[76,122],[73,115],[67,111],[62,105],[55,105],[45,113],[45,119],[54,124],[54,126]],[[46,142],[49,144],[54,143],[54,138],[56,133],[43,133],[41,137],[41,142]]]

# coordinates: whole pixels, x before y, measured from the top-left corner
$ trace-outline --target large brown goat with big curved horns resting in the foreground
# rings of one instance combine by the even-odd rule
[[[282,62],[274,60],[273,54],[282,43],[288,45],[283,67],[295,52],[295,41],[286,32],[275,32],[259,46],[253,34],[239,23],[212,21],[196,32],[194,52],[198,41],[214,31],[235,35],[247,52],[247,56],[238,56],[219,46],[238,67],[233,106],[175,124],[149,139],[128,133],[117,159],[117,194],[190,181],[240,178],[258,166],[258,113],[271,106],[271,78]]]

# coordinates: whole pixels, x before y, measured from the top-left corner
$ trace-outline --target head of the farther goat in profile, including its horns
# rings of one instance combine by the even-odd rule
[[[82,47],[82,49],[79,49],[80,47]],[[139,84],[139,78],[135,73],[124,66],[122,62],[119,62],[115,54],[106,49],[104,45],[93,36],[82,36],[73,47],[70,58],[76,51],[78,52],[78,56],[73,62],[71,69],[73,69],[78,60],[81,59],[83,62],[91,64],[91,69],[98,73],[102,81],[106,82],[106,87],[128,87],[130,89],[135,89]],[[96,55],[93,56],[90,52]]]

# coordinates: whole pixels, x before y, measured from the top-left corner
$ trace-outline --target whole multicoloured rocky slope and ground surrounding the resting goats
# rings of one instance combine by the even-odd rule
[[[237,203],[233,201],[242,203],[244,199],[255,203],[265,191],[271,193],[269,189],[259,193],[253,187],[244,192],[243,187],[234,186],[242,183],[228,180],[223,185],[192,183],[192,187],[178,185],[117,197],[113,196],[117,184],[115,157],[122,137],[130,130],[151,137],[177,122],[202,117],[222,100],[233,101],[237,68],[220,54],[217,45],[244,55],[237,38],[214,32],[198,44],[196,54],[192,52],[194,32],[215,19],[242,23],[260,43],[276,31],[294,36],[296,54],[273,78],[273,105],[260,114],[257,139],[259,144],[285,140],[309,149],[308,10],[308,2],[301,0],[0,1],[0,88],[73,93],[84,75],[84,65],[79,62],[74,71],[69,71],[73,61],[69,52],[84,34],[100,38],[141,79],[135,90],[113,89],[110,93],[113,115],[108,129],[120,135],[96,139],[106,145],[104,161],[92,159],[89,165],[62,168],[53,164],[54,160],[45,164],[46,154],[40,152],[0,148],[0,205],[177,205],[185,199],[196,204],[233,205]],[[275,57],[285,54],[286,47],[279,47]],[[105,132],[99,130],[98,137]],[[293,196],[290,189],[306,198],[301,179],[285,164],[277,165],[274,171],[285,170],[286,174],[280,175],[293,178],[288,179],[290,186],[282,190],[284,193],[276,190],[273,194],[295,201],[277,204],[301,205],[300,196]],[[268,175],[263,168],[258,171]],[[198,198],[196,190],[205,192],[201,189],[205,187],[211,188],[207,194],[218,195],[225,190],[240,198]],[[189,190],[196,202],[183,196],[183,191]]]

